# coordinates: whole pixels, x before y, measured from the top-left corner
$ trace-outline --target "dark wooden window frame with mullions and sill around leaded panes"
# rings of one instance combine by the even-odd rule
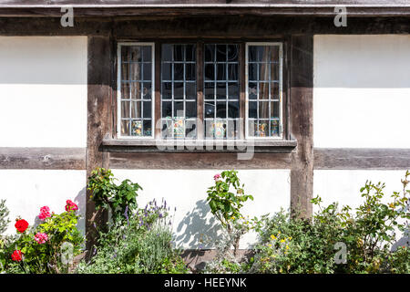
[[[133,141],[140,141],[140,140],[148,140],[148,141],[163,141],[161,135],[161,129],[156,127],[157,123],[160,123],[161,120],[161,88],[160,88],[160,74],[161,74],[161,47],[162,44],[195,44],[197,46],[197,119],[201,120],[202,122],[198,125],[197,128],[197,136],[196,139],[186,139],[186,141],[206,141],[204,139],[204,124],[203,124],[203,117],[204,117],[204,44],[239,44],[240,46],[240,57],[239,57],[239,82],[240,82],[240,120],[241,120],[241,127],[239,137],[237,139],[232,139],[231,141],[255,141],[255,146],[258,146],[260,143],[263,147],[295,147],[296,142],[292,139],[290,134],[290,68],[288,64],[288,59],[290,56],[290,47],[289,47],[289,39],[287,37],[274,37],[274,38],[263,38],[263,39],[253,39],[253,38],[243,38],[243,37],[232,37],[232,38],[203,38],[203,37],[188,37],[188,38],[141,38],[136,40],[117,40],[115,41],[114,45],[118,47],[118,45],[138,45],[138,44],[150,44],[154,48],[154,54],[152,56],[153,59],[153,88],[152,88],[152,99],[153,99],[153,129],[152,129],[152,137],[138,137],[137,139],[133,137],[121,137],[118,135],[118,129],[113,127],[113,140],[108,139],[107,145],[133,145],[133,142],[127,142],[125,140],[133,140]],[[248,92],[248,84],[247,84],[247,47],[249,44],[281,44],[282,48],[282,58],[281,58],[281,103],[280,103],[280,111],[281,111],[281,136],[280,137],[247,137],[247,117],[248,117],[248,104],[246,102]],[[118,54],[118,49],[116,50]],[[114,57],[115,62],[118,62],[118,56]],[[114,67],[113,73],[118,79],[118,64]],[[118,89],[119,84],[117,83],[117,89],[114,90],[115,94],[120,94]],[[114,86],[115,88],[115,86]],[[118,93],[119,92],[119,93]],[[117,99],[113,100],[114,103],[118,103]],[[114,124],[118,127],[118,105],[113,105],[113,107],[117,107],[116,111],[113,111],[113,121]],[[116,143],[115,141],[118,141]],[[208,139],[207,141],[218,141],[216,139]],[[225,140],[226,141],[226,140]],[[258,142],[260,141],[260,142]],[[282,143],[284,142],[284,143]],[[268,143],[268,144],[266,144]],[[150,145],[150,143],[144,143],[141,141],[139,144]],[[289,144],[289,145],[288,145]],[[137,146],[137,144],[135,144]]]

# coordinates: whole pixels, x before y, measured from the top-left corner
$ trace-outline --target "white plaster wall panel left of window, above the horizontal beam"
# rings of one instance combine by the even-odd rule
[[[87,36],[0,36],[0,147],[86,147]]]

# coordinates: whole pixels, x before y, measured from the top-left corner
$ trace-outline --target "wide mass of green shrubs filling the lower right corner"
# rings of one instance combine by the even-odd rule
[[[410,218],[405,174],[403,191],[383,203],[384,183],[366,182],[361,189],[364,203],[352,208],[337,203],[326,208],[320,197],[313,199],[319,212],[313,220],[298,219],[284,212],[259,223],[260,243],[256,245],[249,271],[254,273],[409,273],[409,248],[390,251],[396,229],[408,228]],[[280,241],[278,244],[278,240]],[[282,242],[282,240],[285,240]],[[289,243],[288,243],[289,241]],[[280,245],[282,243],[285,245]],[[346,247],[345,263],[336,263],[337,243]],[[286,247],[287,246],[287,247]]]

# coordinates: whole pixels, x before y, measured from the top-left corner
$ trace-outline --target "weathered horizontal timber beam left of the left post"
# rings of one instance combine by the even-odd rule
[[[0,169],[85,170],[86,148],[0,147]]]

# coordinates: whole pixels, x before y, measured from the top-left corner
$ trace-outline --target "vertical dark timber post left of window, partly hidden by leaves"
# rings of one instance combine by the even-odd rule
[[[110,132],[111,42],[109,36],[88,36],[87,45],[87,178],[97,167],[109,165],[108,153],[101,151],[104,136]],[[97,238],[96,226],[102,226],[107,214],[97,212],[87,190],[86,237],[89,255]]]

